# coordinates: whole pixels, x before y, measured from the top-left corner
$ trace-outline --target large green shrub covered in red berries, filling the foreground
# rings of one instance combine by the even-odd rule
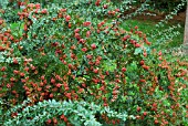
[[[122,11],[101,0],[29,3],[19,35],[1,19],[1,124],[186,125],[188,63],[121,28]]]

